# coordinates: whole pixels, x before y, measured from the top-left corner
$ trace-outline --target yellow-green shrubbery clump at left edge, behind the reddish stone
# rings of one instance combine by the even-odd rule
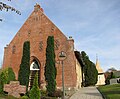
[[[10,81],[14,81],[15,80],[15,74],[12,70],[12,68],[6,68],[3,69],[0,72],[0,93],[3,92],[3,86],[4,84],[9,84]]]

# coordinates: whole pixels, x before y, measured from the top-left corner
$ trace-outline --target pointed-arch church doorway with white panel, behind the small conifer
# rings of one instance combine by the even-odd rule
[[[38,84],[40,87],[40,64],[36,59],[33,59],[30,65],[30,77],[29,77],[29,88],[30,90],[34,83],[35,74],[38,73]]]

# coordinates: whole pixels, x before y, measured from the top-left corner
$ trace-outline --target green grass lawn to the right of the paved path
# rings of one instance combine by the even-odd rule
[[[120,84],[98,87],[105,99],[120,99]]]

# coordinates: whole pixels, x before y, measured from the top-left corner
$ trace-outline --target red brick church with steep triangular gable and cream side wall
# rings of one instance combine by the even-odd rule
[[[80,88],[82,71],[79,60],[75,56],[74,40],[71,37],[67,38],[44,14],[43,9],[38,4],[34,6],[34,11],[17,32],[13,40],[4,48],[3,68],[12,67],[17,79],[23,44],[25,41],[30,41],[30,70],[31,73],[37,70],[39,71],[39,85],[40,88],[44,88],[44,67],[48,36],[54,36],[55,39],[57,88],[62,87],[62,65],[58,59],[58,53],[61,51],[66,52],[67,55],[66,60],[64,60],[65,88]],[[33,68],[33,66],[36,67]]]

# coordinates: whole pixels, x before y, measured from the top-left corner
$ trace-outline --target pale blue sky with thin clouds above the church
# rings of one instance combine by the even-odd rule
[[[0,11],[0,64],[4,47],[39,3],[44,13],[67,36],[75,40],[75,49],[85,51],[96,61],[98,54],[104,71],[120,70],[120,0],[1,0],[20,10]]]

